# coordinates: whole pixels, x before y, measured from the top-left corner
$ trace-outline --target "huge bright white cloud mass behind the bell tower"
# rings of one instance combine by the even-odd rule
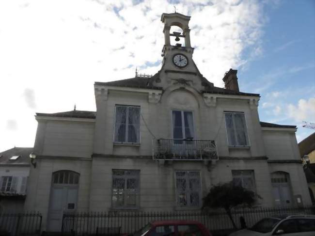
[[[135,4],[133,4],[135,3]],[[139,3],[139,4],[136,4]],[[190,38],[201,73],[216,86],[229,68],[244,66],[242,52],[258,55],[264,4],[256,0],[183,0],[178,12],[191,16]],[[155,74],[164,44],[167,0],[24,0],[0,1],[0,151],[32,146],[37,112],[95,110],[94,81]],[[123,48],[115,50],[117,48]],[[145,66],[145,64],[154,64]],[[14,93],[12,93],[14,88]],[[21,104],[26,89],[36,91]],[[29,92],[30,92],[29,91]],[[14,132],[6,120],[16,119]]]

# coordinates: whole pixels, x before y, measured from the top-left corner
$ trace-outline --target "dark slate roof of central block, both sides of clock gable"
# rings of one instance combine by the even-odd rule
[[[122,79],[122,80],[115,80],[110,82],[95,82],[95,85],[105,85],[105,86],[117,86],[117,87],[128,87],[128,88],[141,88],[141,89],[156,89],[162,90],[161,87],[153,86],[153,81],[158,79],[159,72],[152,77],[135,77],[130,79]],[[203,93],[209,94],[229,94],[229,95],[245,95],[245,96],[259,96],[259,94],[251,94],[251,93],[243,93],[232,91],[228,89],[223,89],[215,86],[210,86],[210,82],[204,79],[206,83],[206,89],[202,91]]]

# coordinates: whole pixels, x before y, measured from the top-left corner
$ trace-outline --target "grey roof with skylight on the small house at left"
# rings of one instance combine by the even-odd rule
[[[6,151],[0,152],[0,165],[1,164],[25,164],[31,163],[30,154],[32,147],[14,147]],[[10,160],[12,156],[20,156],[15,160]]]

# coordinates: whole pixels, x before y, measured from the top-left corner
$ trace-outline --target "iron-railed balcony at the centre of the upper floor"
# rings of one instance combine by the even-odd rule
[[[159,139],[153,150],[157,160],[217,160],[214,140]]]

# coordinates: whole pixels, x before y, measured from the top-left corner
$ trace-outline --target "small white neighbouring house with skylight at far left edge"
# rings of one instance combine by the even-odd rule
[[[22,212],[33,148],[14,147],[0,153],[0,212]]]

